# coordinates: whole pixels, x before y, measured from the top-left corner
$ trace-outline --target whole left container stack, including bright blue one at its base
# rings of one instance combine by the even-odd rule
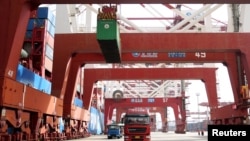
[[[48,94],[51,91],[54,36],[55,15],[48,7],[39,7],[31,13],[27,25],[16,78]]]

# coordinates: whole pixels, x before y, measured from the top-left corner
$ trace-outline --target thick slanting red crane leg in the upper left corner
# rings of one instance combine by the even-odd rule
[[[0,1],[0,76],[16,79],[17,64],[33,5],[27,0]],[[2,84],[2,82],[0,82]],[[2,85],[1,85],[2,86]]]

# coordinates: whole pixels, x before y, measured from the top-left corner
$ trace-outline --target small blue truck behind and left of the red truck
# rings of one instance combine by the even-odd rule
[[[107,137],[108,139],[118,138],[123,136],[123,124],[109,124],[107,125]]]

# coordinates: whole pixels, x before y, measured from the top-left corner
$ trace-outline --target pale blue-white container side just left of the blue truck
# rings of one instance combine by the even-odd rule
[[[90,108],[90,121],[89,121],[89,132],[91,134],[101,134],[102,133],[102,124],[103,124],[103,116],[100,116],[100,111],[96,108]]]

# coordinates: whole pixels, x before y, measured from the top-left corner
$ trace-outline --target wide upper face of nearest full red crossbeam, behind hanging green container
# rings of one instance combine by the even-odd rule
[[[121,33],[120,37],[122,53],[248,51],[250,45],[250,33]],[[66,56],[101,53],[95,33],[56,34],[56,46],[68,51]]]

